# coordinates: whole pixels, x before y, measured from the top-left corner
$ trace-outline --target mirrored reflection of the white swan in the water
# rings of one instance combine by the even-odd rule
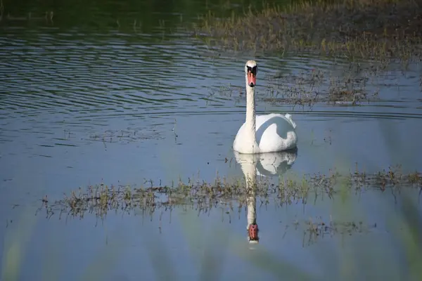
[[[256,213],[256,176],[281,176],[295,162],[298,156],[298,150],[288,150],[283,152],[269,152],[261,154],[241,154],[234,151],[236,162],[241,165],[243,175],[245,176],[246,188],[250,190],[248,202],[248,241],[258,243],[257,213]]]

